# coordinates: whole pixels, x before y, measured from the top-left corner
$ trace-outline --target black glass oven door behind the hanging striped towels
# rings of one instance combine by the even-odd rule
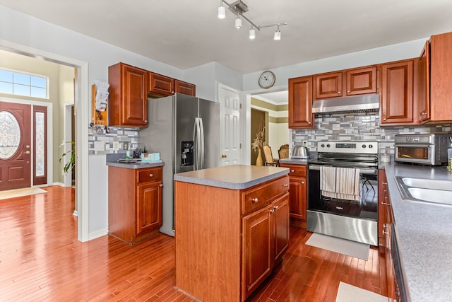
[[[324,196],[321,165],[309,165],[308,210],[378,221],[378,170],[359,168],[359,200]]]

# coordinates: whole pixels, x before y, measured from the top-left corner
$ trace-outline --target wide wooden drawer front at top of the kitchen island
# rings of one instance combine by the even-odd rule
[[[242,193],[242,214],[247,214],[264,207],[275,199],[275,197],[288,191],[289,178],[287,176],[246,190]]]

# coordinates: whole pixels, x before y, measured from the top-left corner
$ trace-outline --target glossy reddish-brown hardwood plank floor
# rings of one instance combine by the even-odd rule
[[[44,190],[0,200],[1,301],[194,301],[174,289],[174,238],[81,243],[73,188]],[[335,301],[339,281],[386,296],[383,253],[359,260],[305,245],[310,235],[291,226],[282,265],[251,301]]]

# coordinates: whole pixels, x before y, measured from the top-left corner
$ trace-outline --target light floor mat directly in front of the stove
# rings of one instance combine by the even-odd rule
[[[312,233],[306,244],[316,248],[323,248],[323,250],[331,250],[332,252],[338,252],[340,254],[356,257],[362,260],[369,259],[369,245],[365,243],[358,243],[352,240]]]

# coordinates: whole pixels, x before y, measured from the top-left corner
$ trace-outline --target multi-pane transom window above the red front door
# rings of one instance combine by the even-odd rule
[[[47,98],[47,81],[46,76],[0,69],[0,93]]]

